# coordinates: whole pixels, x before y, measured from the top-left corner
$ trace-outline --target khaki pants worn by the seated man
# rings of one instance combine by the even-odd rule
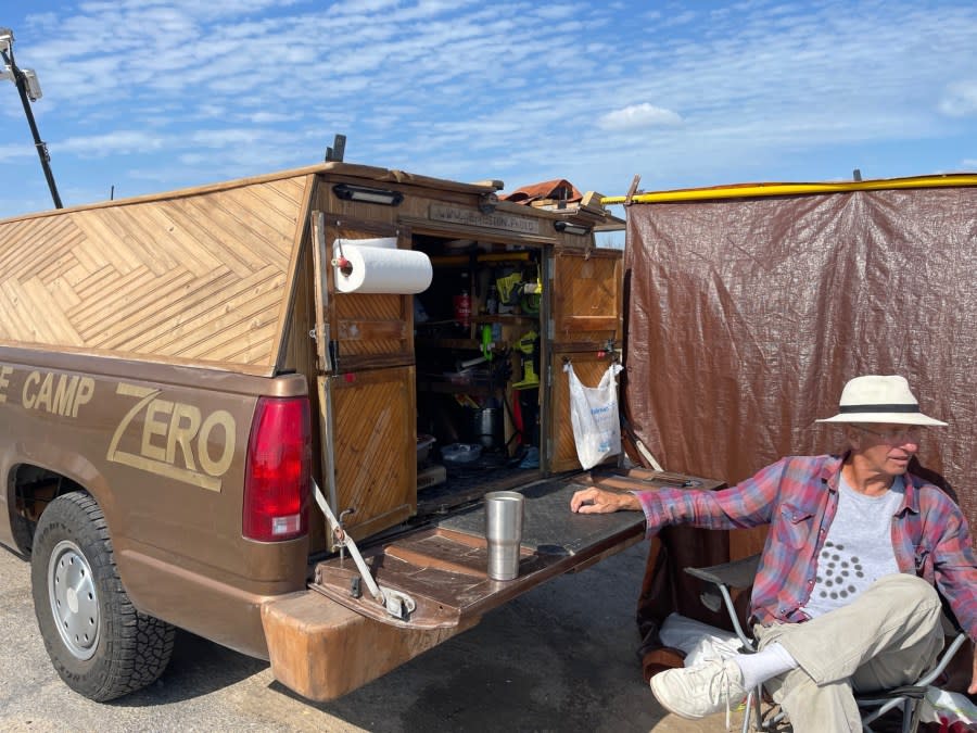
[[[940,599],[905,573],[876,581],[850,605],[804,623],[757,625],[760,648],[779,642],[799,668],[764,687],[795,733],[862,730],[853,692],[911,684],[943,647]]]

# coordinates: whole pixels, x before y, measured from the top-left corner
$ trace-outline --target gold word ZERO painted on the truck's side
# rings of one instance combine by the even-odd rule
[[[220,491],[221,477],[234,457],[237,424],[226,409],[204,417],[195,405],[160,400],[160,390],[119,382],[116,394],[136,397],[109,443],[109,460],[141,471]],[[142,428],[137,417],[142,416]],[[124,438],[139,453],[119,448]],[[200,466],[200,469],[198,469]]]

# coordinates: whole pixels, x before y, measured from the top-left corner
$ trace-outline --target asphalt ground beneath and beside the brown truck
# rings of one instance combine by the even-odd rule
[[[54,672],[29,566],[0,548],[0,730],[723,731],[722,716],[665,716],[642,680],[634,610],[646,552],[640,543],[534,589],[331,703],[309,703],[276,682],[266,662],[179,632],[155,684],[98,704]]]

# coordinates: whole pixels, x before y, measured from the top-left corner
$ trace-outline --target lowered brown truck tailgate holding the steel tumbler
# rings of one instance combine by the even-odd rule
[[[682,477],[685,478],[685,477]],[[437,520],[395,541],[363,552],[377,582],[409,595],[416,609],[406,619],[386,612],[366,587],[354,597],[359,572],[353,560],[332,558],[315,569],[310,589],[365,616],[407,629],[465,625],[545,580],[578,570],[616,554],[644,536],[639,511],[576,515],[573,492],[588,485],[649,489],[681,484],[674,475],[606,470],[531,484],[525,496],[519,577],[492,580],[486,574],[485,510],[482,503]],[[637,581],[636,581],[637,582]]]

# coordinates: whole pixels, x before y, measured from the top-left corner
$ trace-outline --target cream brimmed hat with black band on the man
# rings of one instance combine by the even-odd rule
[[[904,377],[866,375],[848,381],[841,390],[838,414],[815,422],[892,422],[944,426],[919,412],[919,403]]]

